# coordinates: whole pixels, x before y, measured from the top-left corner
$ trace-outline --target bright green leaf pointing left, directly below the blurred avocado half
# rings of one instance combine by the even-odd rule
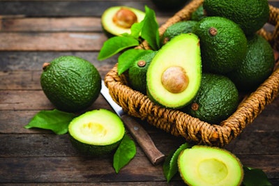
[[[98,54],[98,60],[102,61],[110,58],[111,56],[121,52],[123,49],[135,47],[139,44],[139,40],[130,36],[114,36],[104,42],[103,47],[100,49],[100,53]]]

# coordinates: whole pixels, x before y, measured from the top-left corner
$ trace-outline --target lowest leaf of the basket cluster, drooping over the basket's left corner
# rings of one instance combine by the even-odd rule
[[[135,59],[149,52],[152,52],[152,50],[128,49],[125,52],[123,52],[118,58],[118,66],[117,66],[118,74],[121,75],[123,72],[128,70],[131,65],[133,65]]]

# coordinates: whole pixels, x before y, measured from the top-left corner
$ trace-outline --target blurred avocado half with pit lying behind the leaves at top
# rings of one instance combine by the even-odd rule
[[[122,33],[130,33],[131,26],[144,20],[144,17],[145,13],[142,10],[112,6],[103,13],[101,24],[107,36],[120,36]]]

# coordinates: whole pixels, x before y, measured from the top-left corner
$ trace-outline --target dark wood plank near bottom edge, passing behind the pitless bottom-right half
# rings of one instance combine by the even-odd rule
[[[257,168],[263,169],[268,177],[279,177],[278,167],[273,169],[278,164],[278,155],[246,155],[240,160],[243,164],[257,161]],[[108,157],[10,157],[0,158],[0,164],[0,183],[165,181],[162,166],[151,166],[145,157],[134,158],[118,174]],[[176,175],[174,180],[181,178]]]

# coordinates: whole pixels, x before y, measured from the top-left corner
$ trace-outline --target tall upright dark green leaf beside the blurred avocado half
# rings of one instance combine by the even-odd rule
[[[141,36],[146,40],[152,49],[158,50],[160,48],[159,25],[156,21],[154,10],[145,6],[145,17],[143,20]]]

